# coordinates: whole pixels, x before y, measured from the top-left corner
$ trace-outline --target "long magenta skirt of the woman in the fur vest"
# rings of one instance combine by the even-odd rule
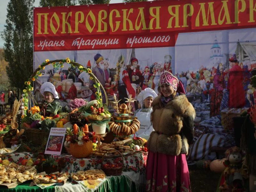
[[[146,180],[146,191],[191,192],[186,155],[148,152]]]

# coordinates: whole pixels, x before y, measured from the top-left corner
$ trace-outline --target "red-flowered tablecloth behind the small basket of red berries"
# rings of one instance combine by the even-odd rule
[[[124,156],[124,172],[135,172],[145,174],[145,167],[147,162],[147,153],[137,153],[132,156]],[[64,158],[66,166],[63,171],[75,173],[77,171],[85,171],[89,169],[100,169],[101,158],[87,157],[75,158],[68,154],[52,155],[55,159]],[[103,164],[110,162],[113,164],[114,160],[122,161],[122,157],[104,159]]]

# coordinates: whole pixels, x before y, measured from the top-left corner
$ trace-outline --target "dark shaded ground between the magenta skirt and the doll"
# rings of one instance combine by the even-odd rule
[[[221,173],[188,166],[192,192],[215,192]]]

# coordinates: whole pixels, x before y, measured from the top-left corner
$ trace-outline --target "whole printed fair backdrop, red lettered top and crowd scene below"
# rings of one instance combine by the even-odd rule
[[[123,102],[147,87],[158,93],[159,77],[169,71],[200,121],[254,103],[255,6],[255,0],[185,0],[35,8],[34,69],[68,57],[92,69],[109,100],[116,93]],[[93,82],[77,68],[50,65],[42,74],[37,100],[46,81],[61,100],[94,99]]]

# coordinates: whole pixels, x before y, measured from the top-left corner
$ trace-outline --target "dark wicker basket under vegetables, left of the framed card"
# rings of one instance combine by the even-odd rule
[[[43,144],[44,140],[48,140],[50,132],[45,132],[40,129],[24,127],[25,135],[28,141],[31,141],[35,146]]]

